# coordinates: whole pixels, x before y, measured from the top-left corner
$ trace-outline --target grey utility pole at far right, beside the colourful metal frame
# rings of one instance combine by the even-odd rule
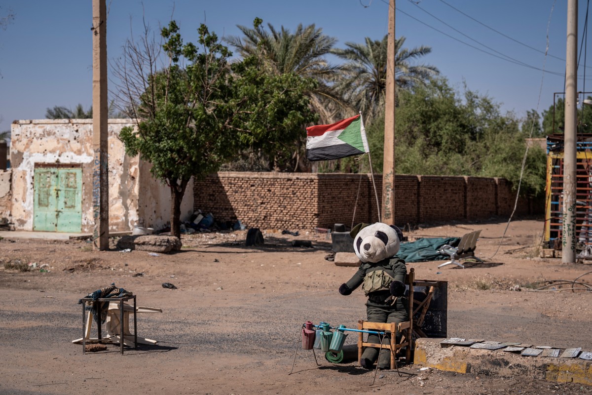
[[[575,264],[575,184],[578,57],[578,1],[567,2],[567,50],[565,57],[565,131],[563,158],[563,233],[561,261]]]

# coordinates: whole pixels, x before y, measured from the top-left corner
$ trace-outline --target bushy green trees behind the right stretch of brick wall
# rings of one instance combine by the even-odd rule
[[[487,96],[451,89],[436,79],[413,92],[401,91],[395,130],[395,170],[398,174],[473,175],[503,177],[516,188],[526,152],[525,134],[511,114]],[[372,164],[382,169],[384,116],[366,129]],[[531,147],[520,192],[545,190],[545,152]]]

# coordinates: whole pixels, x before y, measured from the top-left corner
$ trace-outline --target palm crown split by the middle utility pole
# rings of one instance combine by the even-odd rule
[[[388,34],[382,40],[366,37],[365,43],[345,43],[346,49],[333,49],[331,53],[348,60],[343,67],[344,75],[336,81],[336,89],[343,94],[352,107],[372,119],[384,108],[387,86]],[[439,74],[435,66],[411,65],[411,60],[432,52],[427,46],[403,48],[405,37],[395,40],[395,83],[398,89],[412,89],[425,84]]]

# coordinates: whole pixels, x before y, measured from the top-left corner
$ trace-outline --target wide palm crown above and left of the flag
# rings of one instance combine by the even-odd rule
[[[283,26],[278,31],[271,24],[268,24],[268,31],[261,23],[262,20],[256,18],[253,28],[238,25],[244,37],[230,36],[226,41],[243,57],[258,56],[269,73],[295,73],[316,79],[317,88],[308,92],[311,106],[321,122],[333,121],[336,112],[346,106],[329,85],[340,66],[329,65],[324,59],[336,39],[323,34],[323,30],[314,24],[306,27],[299,24],[294,33],[291,33]]]

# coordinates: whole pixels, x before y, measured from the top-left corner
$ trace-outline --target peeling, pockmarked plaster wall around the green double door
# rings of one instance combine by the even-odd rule
[[[109,120],[108,123],[109,230],[129,231],[142,220],[144,226],[157,229],[170,217],[170,208],[162,207],[170,204],[160,201],[163,191],[168,196],[168,187],[152,178],[149,171],[140,171],[149,168],[149,163],[126,155],[124,144],[117,137],[125,126],[133,126],[133,123],[131,120]],[[94,226],[93,158],[92,119],[15,121],[11,140],[15,229],[33,230],[35,164],[72,163],[82,166],[82,232],[91,233]],[[189,198],[193,200],[192,194]]]

